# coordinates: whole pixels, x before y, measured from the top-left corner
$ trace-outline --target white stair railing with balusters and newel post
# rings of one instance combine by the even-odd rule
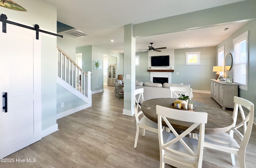
[[[58,77],[92,100],[91,73],[84,72],[68,55],[57,47]]]

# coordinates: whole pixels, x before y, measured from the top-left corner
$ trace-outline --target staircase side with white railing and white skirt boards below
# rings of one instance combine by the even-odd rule
[[[84,72],[68,55],[57,47],[58,72],[57,84],[72,93],[83,105],[66,111],[57,111],[57,119],[76,113],[92,106],[91,72]],[[58,93],[57,93],[58,94]]]

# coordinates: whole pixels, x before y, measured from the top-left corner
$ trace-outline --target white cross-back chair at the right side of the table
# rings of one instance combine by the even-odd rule
[[[240,168],[245,168],[245,151],[252,132],[254,104],[236,96],[234,96],[234,103],[233,127],[229,132],[205,135],[204,146],[230,153],[231,162],[234,166],[236,165],[234,154],[238,155]],[[244,111],[248,112],[247,116]],[[237,122],[238,113],[241,114],[241,122]],[[236,136],[234,136],[234,133]]]

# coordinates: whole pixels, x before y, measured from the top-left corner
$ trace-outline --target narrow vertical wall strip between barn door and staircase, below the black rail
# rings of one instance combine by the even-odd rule
[[[56,124],[56,38],[42,36],[42,130]]]

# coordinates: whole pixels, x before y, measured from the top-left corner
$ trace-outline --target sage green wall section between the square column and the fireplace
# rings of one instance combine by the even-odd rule
[[[140,65],[135,66],[136,76],[135,79],[142,82],[150,81],[150,72],[148,72],[148,52],[136,53],[140,55]]]

